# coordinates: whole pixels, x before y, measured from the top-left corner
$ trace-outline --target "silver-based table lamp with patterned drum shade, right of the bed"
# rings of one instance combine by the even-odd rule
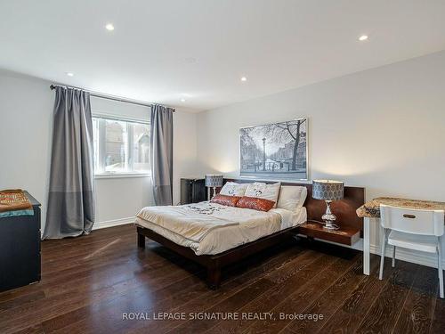
[[[338,230],[336,215],[331,212],[331,202],[344,198],[344,183],[333,180],[313,180],[312,198],[315,200],[325,200],[326,212],[321,219],[325,222],[324,228],[328,230]]]

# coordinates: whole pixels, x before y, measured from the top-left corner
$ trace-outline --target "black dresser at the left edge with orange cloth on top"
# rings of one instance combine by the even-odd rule
[[[0,218],[0,291],[40,281],[40,203],[26,194],[34,216]]]

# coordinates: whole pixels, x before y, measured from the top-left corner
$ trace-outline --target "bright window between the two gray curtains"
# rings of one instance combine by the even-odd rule
[[[93,117],[94,174],[150,172],[148,122]]]

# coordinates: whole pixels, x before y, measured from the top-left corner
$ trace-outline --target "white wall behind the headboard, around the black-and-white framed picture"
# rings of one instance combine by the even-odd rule
[[[201,172],[238,177],[239,127],[303,116],[310,179],[445,201],[445,52],[200,113]]]

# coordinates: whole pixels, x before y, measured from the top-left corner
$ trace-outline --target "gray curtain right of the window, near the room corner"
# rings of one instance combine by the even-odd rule
[[[150,161],[156,205],[173,203],[173,113],[171,108],[151,106]]]

